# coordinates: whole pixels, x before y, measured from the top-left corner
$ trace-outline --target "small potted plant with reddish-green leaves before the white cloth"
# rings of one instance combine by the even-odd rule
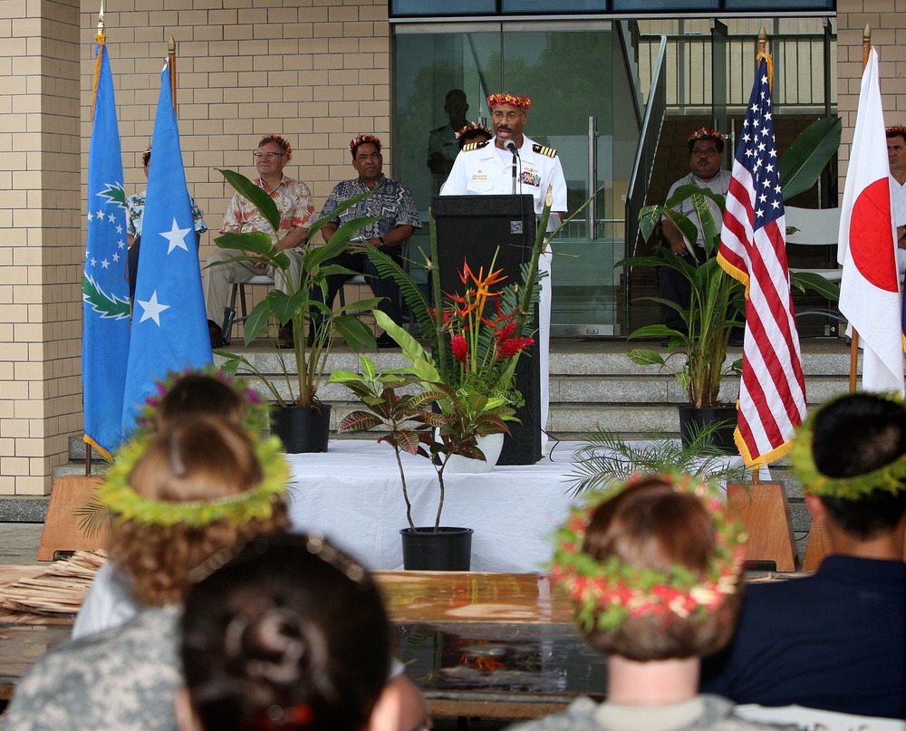
[[[477,439],[508,431],[503,415],[497,409],[481,409],[477,403],[464,403],[455,390],[443,383],[426,384],[421,375],[411,369],[378,372],[371,359],[360,356],[359,360],[361,373],[350,370],[334,370],[331,373],[331,382],[342,383],[352,390],[364,407],[343,418],[338,431],[375,427],[387,429],[378,442],[389,444],[396,454],[409,523],[408,528],[400,530],[403,565],[416,570],[467,571],[472,529],[440,524],[446,495],[444,475],[451,457],[469,457],[477,461],[485,459],[477,447]],[[419,386],[427,386],[427,390]],[[439,402],[444,402],[447,410],[434,410],[434,405]],[[439,502],[433,526],[417,527],[412,520],[412,504],[401,457],[403,452],[428,458],[437,474]]]

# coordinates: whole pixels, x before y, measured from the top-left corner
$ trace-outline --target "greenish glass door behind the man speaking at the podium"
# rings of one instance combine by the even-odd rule
[[[554,336],[618,330],[613,263],[622,258],[623,199],[639,129],[621,43],[607,21],[548,22],[543,30],[528,22],[400,25],[394,38],[393,176],[413,189],[424,219],[445,178],[431,153],[445,149],[461,121],[459,91],[467,120],[487,119],[489,93],[531,97],[525,135],[557,150],[569,212],[599,191],[553,242]],[[428,248],[427,230],[410,252],[419,248]]]

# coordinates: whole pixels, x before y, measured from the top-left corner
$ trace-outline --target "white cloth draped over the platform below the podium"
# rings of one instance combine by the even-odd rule
[[[551,445],[555,445],[551,442]],[[473,528],[472,571],[536,572],[552,553],[551,536],[571,503],[564,477],[579,445],[561,442],[529,466],[496,466],[485,475],[444,475],[441,525]],[[434,525],[439,486],[425,457],[402,455],[412,520]],[[290,455],[294,529],[320,531],[372,570],[402,568],[406,504],[387,444],[333,440],[320,454]]]

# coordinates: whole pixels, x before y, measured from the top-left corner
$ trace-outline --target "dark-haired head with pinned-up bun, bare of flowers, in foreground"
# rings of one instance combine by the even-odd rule
[[[389,622],[352,558],[275,534],[189,589],[181,656],[207,731],[359,731],[387,682]]]

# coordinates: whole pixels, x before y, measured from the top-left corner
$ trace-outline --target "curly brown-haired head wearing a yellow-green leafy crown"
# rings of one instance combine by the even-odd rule
[[[288,468],[278,448],[195,417],[120,450],[99,496],[114,518],[111,560],[135,599],[180,601],[189,572],[212,554],[285,527]]]

